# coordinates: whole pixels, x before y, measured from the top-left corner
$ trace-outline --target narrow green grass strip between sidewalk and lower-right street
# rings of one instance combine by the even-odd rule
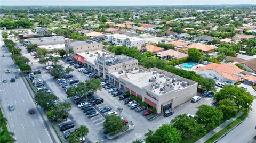
[[[212,136],[209,140],[207,140],[205,143],[212,143],[219,139],[223,134],[234,128],[237,124],[241,123],[246,117],[248,116],[248,113],[244,113],[241,116],[239,116],[236,120],[231,122],[229,125],[227,125],[225,128],[220,130],[218,133],[216,133],[214,136]]]

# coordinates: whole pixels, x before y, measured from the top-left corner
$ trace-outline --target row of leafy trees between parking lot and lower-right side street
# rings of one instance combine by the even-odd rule
[[[195,118],[189,118],[186,114],[175,116],[170,124],[162,125],[155,132],[149,130],[145,134],[145,141],[178,143],[202,137],[221,123],[235,117],[238,111],[246,114],[250,110],[253,97],[245,89],[228,85],[217,92],[214,100],[218,101],[217,107],[201,105]]]

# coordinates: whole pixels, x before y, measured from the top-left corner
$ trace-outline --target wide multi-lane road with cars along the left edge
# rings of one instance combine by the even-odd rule
[[[3,41],[1,39],[0,102],[1,108],[8,120],[9,129],[15,133],[14,139],[21,143],[53,142],[41,115],[37,111],[36,105],[29,95],[24,81],[18,78],[15,82],[10,82],[10,79],[14,78],[18,73],[15,73],[17,69],[15,69],[9,51],[7,51],[7,48],[3,48],[2,45]],[[5,55],[5,57],[2,57],[2,55]],[[6,69],[9,69],[11,73],[5,73]],[[3,83],[3,79],[7,79],[7,82]],[[14,111],[9,111],[9,104],[14,105]],[[29,108],[35,108],[36,113],[29,115]]]

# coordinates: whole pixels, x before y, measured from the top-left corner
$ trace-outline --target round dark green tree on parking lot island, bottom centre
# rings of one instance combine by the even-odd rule
[[[107,115],[105,116],[106,120],[103,123],[104,129],[106,129],[111,134],[116,134],[117,132],[121,131],[124,126],[124,121],[121,117],[116,115]]]

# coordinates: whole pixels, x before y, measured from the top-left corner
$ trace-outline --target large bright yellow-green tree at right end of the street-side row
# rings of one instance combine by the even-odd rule
[[[217,102],[223,99],[234,100],[237,107],[242,111],[249,111],[253,102],[253,97],[245,89],[233,85],[226,85],[213,98]]]

